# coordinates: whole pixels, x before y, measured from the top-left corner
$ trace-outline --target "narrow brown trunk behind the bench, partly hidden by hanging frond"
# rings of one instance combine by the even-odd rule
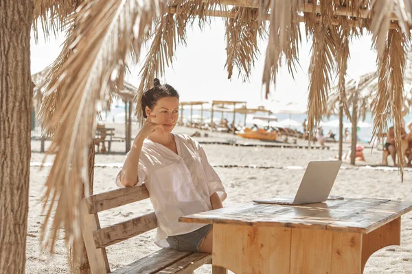
[[[95,140],[91,143],[89,149],[89,189],[86,190],[87,195],[93,194],[93,179],[94,179],[94,163],[95,163]],[[86,193],[85,191],[85,193]],[[82,246],[77,249],[76,246],[69,248],[70,253],[70,273],[71,274],[91,274],[89,258],[87,258],[86,247],[82,241]],[[77,254],[79,253],[79,255]]]

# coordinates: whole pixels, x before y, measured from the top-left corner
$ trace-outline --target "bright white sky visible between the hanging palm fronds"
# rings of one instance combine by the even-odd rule
[[[305,33],[303,28],[301,33]],[[64,40],[64,34],[60,34],[58,38],[50,38],[45,42],[43,34],[40,34],[36,44],[32,35],[32,73],[45,69],[57,58]],[[167,68],[165,75],[160,77],[161,83],[176,88],[181,101],[247,101],[249,107],[257,106],[264,100],[262,73],[266,46],[266,41],[260,42],[260,55],[249,82],[243,82],[242,77],[238,77],[237,69],[233,71],[232,79],[227,79],[225,22],[221,18],[213,18],[210,26],[205,27],[203,31],[195,23],[193,28],[187,30],[187,46],[179,45],[176,48],[172,67]],[[311,43],[303,36],[299,49],[301,68],[295,73],[295,79],[289,74],[286,65],[279,69],[276,86],[271,88],[271,100],[306,104],[310,49]],[[347,79],[376,71],[376,52],[371,49],[371,36],[354,40],[350,45],[350,55]],[[131,74],[126,75],[126,81],[139,86],[140,66],[131,65],[130,68]]]

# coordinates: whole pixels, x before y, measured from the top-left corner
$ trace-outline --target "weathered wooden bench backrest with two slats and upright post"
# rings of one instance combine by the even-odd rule
[[[155,212],[100,227],[98,212],[141,201],[149,197],[146,186],[133,186],[102,192],[82,201],[82,234],[93,274],[110,273],[105,247],[143,234],[157,227]]]

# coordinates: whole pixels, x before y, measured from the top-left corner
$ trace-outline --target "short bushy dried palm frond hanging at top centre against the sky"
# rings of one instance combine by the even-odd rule
[[[226,52],[225,67],[228,79],[231,78],[233,67],[237,66],[239,75],[244,82],[249,79],[251,69],[258,58],[258,35],[263,38],[264,25],[258,21],[258,9],[237,8],[234,18],[226,21]]]

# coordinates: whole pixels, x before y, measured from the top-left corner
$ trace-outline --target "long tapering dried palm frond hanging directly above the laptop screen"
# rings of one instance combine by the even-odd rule
[[[312,58],[310,58],[309,95],[308,95],[308,132],[314,133],[315,125],[321,121],[325,114],[330,89],[330,77],[334,68],[336,55],[336,32],[331,27],[312,24],[313,42]]]

